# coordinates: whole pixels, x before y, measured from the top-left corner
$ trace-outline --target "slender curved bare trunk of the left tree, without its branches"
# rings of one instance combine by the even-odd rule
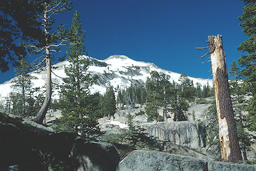
[[[46,97],[42,107],[40,108],[38,115],[32,119],[37,123],[43,123],[44,117],[46,117],[46,112],[51,104],[52,96],[52,78],[51,78],[51,53],[49,48],[49,31],[47,24],[47,8],[44,12],[44,36],[46,37]]]

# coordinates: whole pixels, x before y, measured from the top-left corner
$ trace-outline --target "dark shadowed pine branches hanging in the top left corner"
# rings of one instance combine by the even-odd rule
[[[5,0],[0,6],[0,71],[9,70],[9,61],[16,63],[16,57],[23,49],[15,43],[18,39],[40,39],[42,31],[36,15],[42,12],[39,3],[43,1]]]

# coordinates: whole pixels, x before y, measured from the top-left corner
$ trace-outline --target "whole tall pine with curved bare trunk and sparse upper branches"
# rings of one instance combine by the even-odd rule
[[[46,96],[42,107],[40,108],[38,115],[33,118],[33,121],[43,123],[43,119],[46,116],[49,105],[51,104],[52,95],[52,79],[51,79],[51,63],[53,60],[53,53],[59,52],[60,45],[64,45],[67,41],[67,32],[60,24],[57,30],[53,30],[52,25],[55,23],[55,14],[63,13],[67,10],[71,10],[71,2],[67,0],[51,0],[44,1],[38,4],[42,8],[42,12],[38,15],[38,20],[42,20],[42,27],[40,29],[43,35],[38,39],[30,41],[32,45],[28,45],[28,52],[35,54],[42,54],[37,60],[38,66],[46,66]],[[43,41],[42,41],[43,40]]]

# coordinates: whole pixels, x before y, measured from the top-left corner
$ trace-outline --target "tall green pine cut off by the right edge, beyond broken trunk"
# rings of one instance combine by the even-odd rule
[[[246,6],[243,7],[242,16],[238,17],[241,21],[240,25],[243,27],[243,33],[249,36],[249,39],[242,42],[240,46],[237,47],[241,52],[247,52],[247,55],[242,55],[238,59],[238,63],[243,67],[241,74],[243,76],[243,82],[245,82],[246,91],[251,95],[249,105],[246,110],[249,111],[249,121],[253,124],[250,125],[250,131],[256,131],[256,65],[255,65],[255,49],[256,49],[256,2],[246,0]]]

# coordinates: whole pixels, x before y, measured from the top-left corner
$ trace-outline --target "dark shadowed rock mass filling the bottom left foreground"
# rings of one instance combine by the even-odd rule
[[[0,113],[1,171],[46,170],[43,161],[53,157],[52,164],[63,166],[64,170],[113,171],[118,165],[119,157],[112,144],[93,142],[68,132],[50,132],[35,125],[24,125]],[[43,161],[40,152],[47,152]]]

